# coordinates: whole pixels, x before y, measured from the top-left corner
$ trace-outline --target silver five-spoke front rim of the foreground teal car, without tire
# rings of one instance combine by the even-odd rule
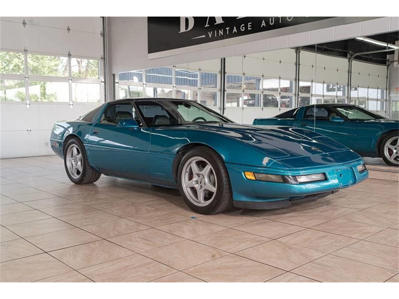
[[[209,205],[217,190],[217,179],[211,163],[199,156],[188,159],[182,169],[182,187],[194,205]]]

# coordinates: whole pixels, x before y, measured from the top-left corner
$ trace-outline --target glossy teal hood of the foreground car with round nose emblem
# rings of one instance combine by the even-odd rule
[[[239,124],[194,124],[185,127],[232,138],[273,160],[348,150],[326,136],[301,128]]]

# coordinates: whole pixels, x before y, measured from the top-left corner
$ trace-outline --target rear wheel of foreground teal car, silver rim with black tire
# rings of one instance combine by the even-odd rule
[[[90,167],[85,148],[77,138],[67,140],[64,165],[71,182],[78,185],[94,183],[101,176],[101,173]]]

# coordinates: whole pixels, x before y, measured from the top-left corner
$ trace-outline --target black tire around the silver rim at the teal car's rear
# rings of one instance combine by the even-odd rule
[[[69,173],[68,167],[67,167],[67,151],[69,147],[71,146],[77,146],[79,148],[79,151],[82,155],[82,171],[79,174],[79,177],[74,178],[71,176]],[[71,180],[72,183],[75,183],[77,185],[84,185],[84,184],[91,184],[97,181],[101,173],[98,171],[95,171],[91,166],[89,165],[89,162],[87,161],[87,155],[85,151],[85,147],[83,146],[82,142],[79,140],[79,138],[70,138],[67,140],[67,143],[65,144],[64,147],[64,167],[65,167],[65,172],[67,173],[68,178]]]

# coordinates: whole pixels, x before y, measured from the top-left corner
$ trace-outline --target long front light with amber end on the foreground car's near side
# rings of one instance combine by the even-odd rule
[[[251,171],[244,171],[244,175],[247,179],[252,181],[288,184],[310,183],[326,180],[326,175],[324,173],[314,173],[310,175],[272,175],[267,173],[253,173]]]

